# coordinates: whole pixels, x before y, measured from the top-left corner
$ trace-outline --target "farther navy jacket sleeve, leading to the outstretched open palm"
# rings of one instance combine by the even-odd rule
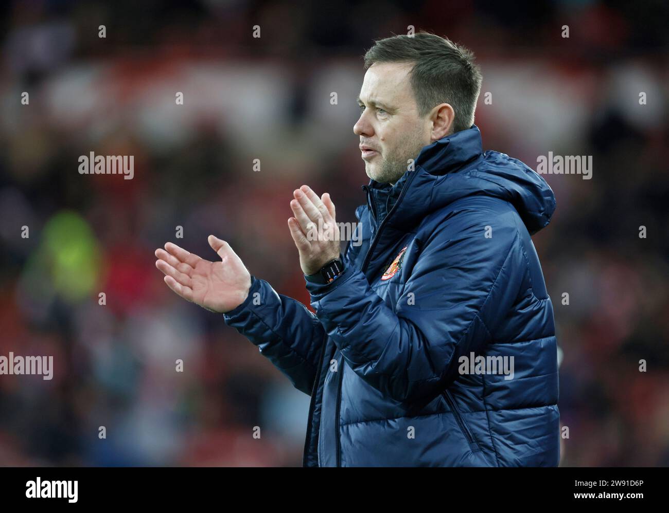
[[[276,293],[268,282],[252,276],[244,303],[224,313],[223,319],[257,345],[296,389],[311,395],[326,334],[302,303]]]

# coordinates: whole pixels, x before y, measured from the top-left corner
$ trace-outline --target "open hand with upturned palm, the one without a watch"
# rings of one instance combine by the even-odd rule
[[[183,299],[212,312],[229,312],[244,303],[251,275],[225,240],[209,235],[207,241],[221,261],[202,259],[167,242],[165,249],[155,251],[156,267],[165,274],[167,286]]]

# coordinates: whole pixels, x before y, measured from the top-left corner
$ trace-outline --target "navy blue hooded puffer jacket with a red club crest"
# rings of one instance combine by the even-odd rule
[[[311,395],[304,466],[557,466],[553,306],[530,238],[551,188],[483,152],[476,125],[363,188],[345,271],[306,280],[316,315],[256,277],[224,315]]]

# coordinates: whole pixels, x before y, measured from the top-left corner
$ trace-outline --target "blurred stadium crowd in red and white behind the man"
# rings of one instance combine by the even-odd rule
[[[54,355],[51,381],[0,375],[0,465],[301,464],[309,397],[222,315],[172,293],[153,252],[172,241],[215,259],[215,234],[308,305],[292,190],[330,192],[337,220],[355,222],[369,182],[353,134],[361,57],[409,25],[476,53],[484,149],[533,168],[549,151],[593,156],[591,180],[544,175],[557,211],[534,238],[560,345],[561,465],[669,464],[666,2],[0,12],[0,355]],[[134,178],[79,174],[90,152],[134,155]]]

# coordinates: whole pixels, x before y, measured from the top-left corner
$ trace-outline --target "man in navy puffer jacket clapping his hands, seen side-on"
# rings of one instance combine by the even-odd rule
[[[340,254],[328,194],[302,186],[291,202],[316,315],[213,236],[221,262],[168,243],[157,266],[311,395],[304,466],[557,466],[553,307],[530,238],[553,192],[482,151],[481,75],[464,47],[399,35],[365,67],[361,244]]]

